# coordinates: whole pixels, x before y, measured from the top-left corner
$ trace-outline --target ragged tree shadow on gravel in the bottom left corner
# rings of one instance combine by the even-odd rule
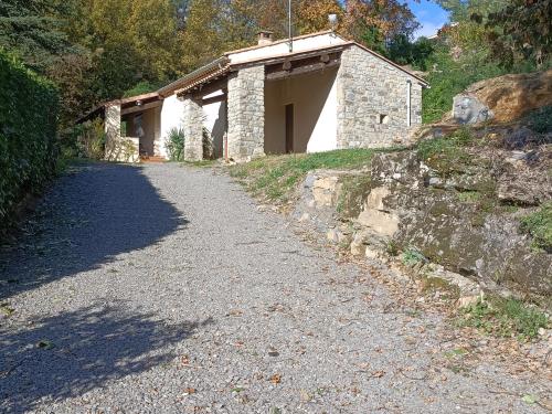
[[[172,344],[212,322],[170,325],[115,302],[38,318],[17,331],[0,327],[0,412],[23,413],[169,364]]]

